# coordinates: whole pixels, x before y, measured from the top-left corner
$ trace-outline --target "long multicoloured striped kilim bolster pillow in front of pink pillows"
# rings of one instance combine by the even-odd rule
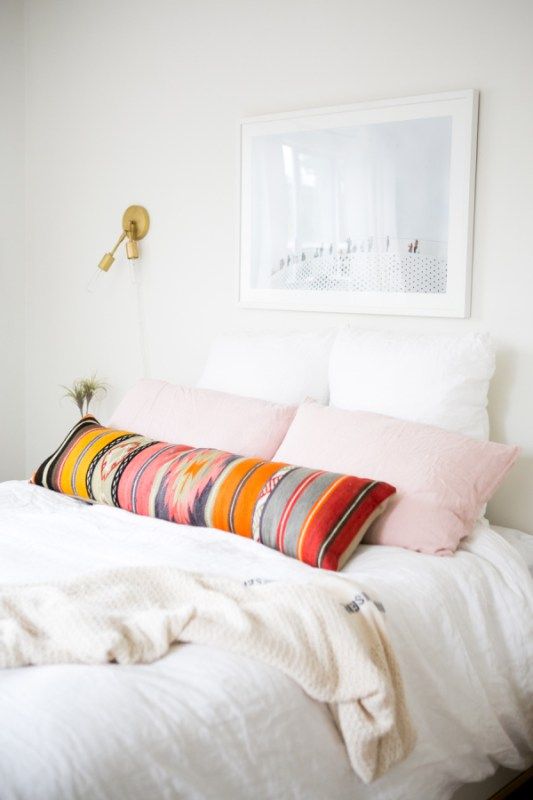
[[[396,491],[322,470],[166,444],[86,416],[32,483],[83,500],[255,539],[341,569]]]

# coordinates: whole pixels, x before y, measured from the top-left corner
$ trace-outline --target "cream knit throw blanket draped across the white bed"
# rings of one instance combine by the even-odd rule
[[[251,656],[331,704],[365,783],[414,745],[379,603],[339,576],[243,584],[143,567],[0,591],[1,667],[148,663],[176,642]]]

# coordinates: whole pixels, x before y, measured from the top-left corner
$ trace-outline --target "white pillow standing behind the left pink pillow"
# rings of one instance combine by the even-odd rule
[[[228,333],[213,342],[197,386],[274,403],[328,402],[333,332]]]

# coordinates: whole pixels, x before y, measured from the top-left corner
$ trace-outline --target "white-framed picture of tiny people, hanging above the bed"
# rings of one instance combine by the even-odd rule
[[[466,317],[478,93],[242,122],[240,303]]]

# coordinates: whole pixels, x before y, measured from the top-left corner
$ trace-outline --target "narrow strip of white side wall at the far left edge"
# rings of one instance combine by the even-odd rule
[[[0,480],[24,474],[24,4],[0,2]]]

